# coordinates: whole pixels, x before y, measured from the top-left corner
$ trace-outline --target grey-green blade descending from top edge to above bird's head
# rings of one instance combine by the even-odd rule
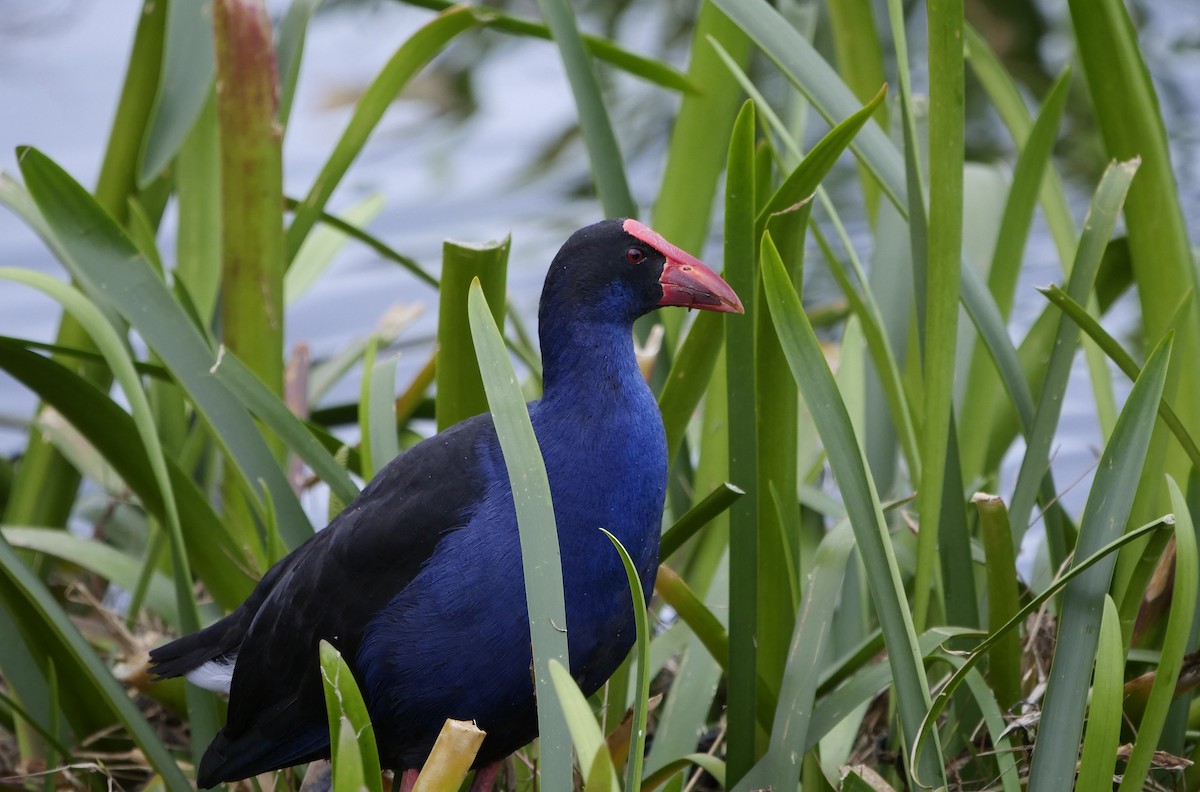
[[[592,162],[592,176],[596,182],[596,194],[607,217],[636,217],[637,204],[629,192],[625,164],[612,131],[608,110],[605,109],[600,84],[596,80],[592,58],[583,47],[583,40],[575,24],[575,12],[568,0],[538,0],[541,16],[546,19],[558,52],[563,58],[566,79],[575,95],[575,108],[580,115],[580,131]]]

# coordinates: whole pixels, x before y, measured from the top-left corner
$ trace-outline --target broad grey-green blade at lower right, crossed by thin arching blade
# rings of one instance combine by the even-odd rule
[[[1168,337],[1146,362],[1121,410],[1096,469],[1092,492],[1080,520],[1076,559],[1091,556],[1124,530],[1150,448],[1154,413],[1163,397],[1170,358],[1171,340]],[[1105,558],[1094,569],[1080,575],[1063,593],[1055,658],[1030,769],[1031,792],[1064,790],[1074,781],[1099,632],[1098,606],[1108,593],[1115,564],[1116,558]]]

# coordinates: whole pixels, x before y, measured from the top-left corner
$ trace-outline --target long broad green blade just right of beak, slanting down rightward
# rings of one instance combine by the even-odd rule
[[[920,722],[929,712],[929,683],[920,662],[912,617],[906,607],[907,598],[892,550],[892,539],[883,521],[875,484],[866,474],[850,413],[838,394],[829,365],[769,234],[763,238],[762,247],[762,275],[772,320],[841,490],[883,629],[905,740],[913,745]],[[937,748],[922,760],[922,775],[941,778],[944,763],[940,755],[941,749]]]

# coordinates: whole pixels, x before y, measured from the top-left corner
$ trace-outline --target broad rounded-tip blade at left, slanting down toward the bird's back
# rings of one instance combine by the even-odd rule
[[[65,247],[65,264],[101,305],[132,324],[188,392],[233,460],[247,493],[264,481],[283,536],[296,546],[312,535],[287,478],[238,400],[212,376],[220,360],[187,319],[166,284],[86,191],[36,149],[22,149],[30,194]],[[250,497],[257,500],[257,497]],[[251,538],[245,538],[247,541]]]

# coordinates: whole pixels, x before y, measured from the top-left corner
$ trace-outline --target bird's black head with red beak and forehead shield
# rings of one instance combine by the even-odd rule
[[[744,313],[730,284],[700,259],[636,220],[606,220],[575,232],[558,251],[541,316],[632,323],[665,305]]]

